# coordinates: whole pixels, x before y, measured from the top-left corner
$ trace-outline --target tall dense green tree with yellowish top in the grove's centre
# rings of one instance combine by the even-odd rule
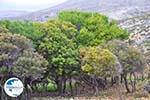
[[[77,45],[73,42],[75,29],[70,23],[50,20],[44,23],[43,31],[47,35],[39,41],[38,51],[49,62],[46,76],[55,81],[62,95],[63,82],[71,80],[79,69]]]

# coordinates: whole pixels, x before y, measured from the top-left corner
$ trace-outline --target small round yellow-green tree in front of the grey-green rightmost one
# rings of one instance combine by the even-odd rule
[[[97,47],[85,47],[80,49],[82,70],[93,77],[96,93],[98,93],[98,82],[96,78],[106,78],[121,73],[121,66],[117,57],[108,51]]]

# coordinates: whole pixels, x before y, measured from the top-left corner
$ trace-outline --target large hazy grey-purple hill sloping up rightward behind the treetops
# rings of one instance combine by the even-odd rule
[[[48,9],[9,19],[45,21],[63,10],[100,12],[118,20],[150,14],[150,0],[68,0]]]

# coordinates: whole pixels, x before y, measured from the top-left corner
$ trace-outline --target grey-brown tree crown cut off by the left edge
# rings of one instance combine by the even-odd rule
[[[1,67],[7,67],[11,71],[14,61],[24,50],[31,49],[31,42],[23,36],[10,33],[0,33]]]

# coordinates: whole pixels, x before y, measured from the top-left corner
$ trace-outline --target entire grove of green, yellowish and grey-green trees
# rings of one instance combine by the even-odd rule
[[[149,80],[144,76],[148,58],[124,42],[128,36],[98,13],[63,11],[44,23],[1,20],[0,100],[9,99],[2,86],[13,76],[23,81],[28,95],[100,95],[117,85],[122,98],[123,82],[128,93],[130,85],[136,92],[139,75]]]

